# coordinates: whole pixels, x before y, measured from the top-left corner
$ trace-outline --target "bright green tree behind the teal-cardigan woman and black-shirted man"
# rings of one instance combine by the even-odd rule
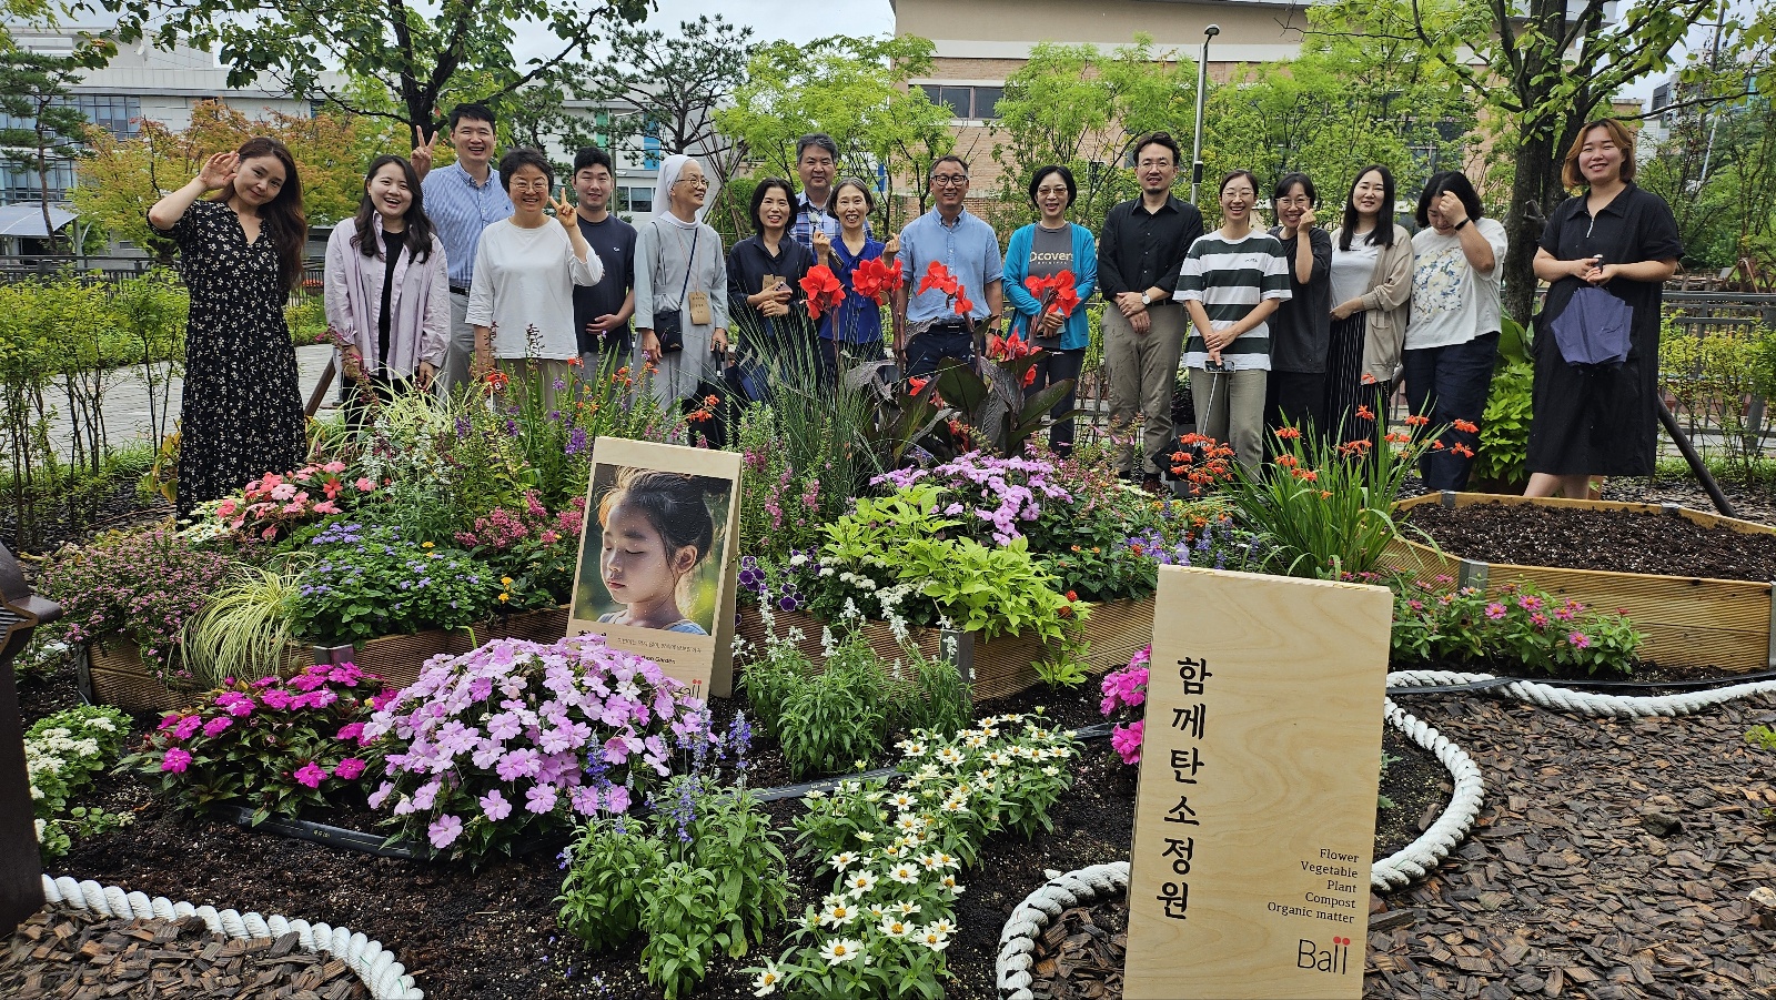
[[[1190,121],[1195,71],[1176,52],[1154,52],[1147,36],[1108,55],[1092,44],[1039,43],[1005,78],[996,108],[1000,199],[1021,204],[1025,179],[1037,167],[1062,163],[1080,188],[1069,217],[1096,226],[1110,204],[1135,190],[1126,169],[1131,146]]]

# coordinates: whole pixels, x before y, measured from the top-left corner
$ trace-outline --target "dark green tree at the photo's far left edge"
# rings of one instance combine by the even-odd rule
[[[115,52],[112,43],[85,34],[69,55],[28,52],[9,37],[0,48],[0,112],[12,123],[0,128],[0,162],[37,176],[37,204],[52,252],[60,238],[50,220],[50,167],[78,156],[87,131],[87,117],[69,99],[69,87]]]

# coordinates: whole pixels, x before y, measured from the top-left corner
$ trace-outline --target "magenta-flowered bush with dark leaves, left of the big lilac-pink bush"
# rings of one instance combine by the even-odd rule
[[[195,709],[169,712],[124,766],[192,812],[238,803],[252,822],[304,806],[364,801],[382,751],[364,732],[382,679],[353,664],[316,664],[281,679],[226,682]]]

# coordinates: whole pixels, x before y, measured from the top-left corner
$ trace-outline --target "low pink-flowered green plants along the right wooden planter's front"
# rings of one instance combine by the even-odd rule
[[[1396,663],[1508,661],[1549,673],[1629,673],[1645,641],[1621,613],[1597,613],[1531,586],[1456,590],[1447,577],[1394,583]]]

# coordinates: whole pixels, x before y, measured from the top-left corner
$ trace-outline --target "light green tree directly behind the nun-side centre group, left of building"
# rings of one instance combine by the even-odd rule
[[[838,146],[840,176],[872,178],[881,167],[888,190],[904,179],[924,211],[931,163],[955,149],[950,112],[908,85],[931,73],[932,52],[911,36],[771,43],[751,57],[716,124],[748,162],[780,178],[796,178],[796,140],[824,131]],[[879,206],[884,226],[893,222],[890,201]]]

